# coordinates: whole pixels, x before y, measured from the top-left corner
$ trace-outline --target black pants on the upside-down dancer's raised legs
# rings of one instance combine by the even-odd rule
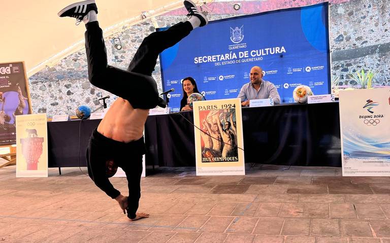
[[[165,31],[146,37],[129,64],[127,71],[107,64],[103,32],[98,21],[86,24],[85,49],[88,78],[92,85],[127,99],[140,109],[155,108],[158,103],[156,82],[151,77],[158,54],[174,46],[192,30],[191,24],[180,22]]]

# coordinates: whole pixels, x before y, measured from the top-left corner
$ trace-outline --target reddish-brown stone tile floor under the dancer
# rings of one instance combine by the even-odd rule
[[[150,218],[131,222],[81,169],[15,178],[15,166],[1,168],[0,241],[390,243],[389,177],[262,164],[219,177],[148,168],[139,212]],[[125,178],[111,181],[126,194]]]

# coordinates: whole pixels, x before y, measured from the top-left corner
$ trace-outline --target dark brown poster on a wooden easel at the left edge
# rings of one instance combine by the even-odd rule
[[[0,146],[15,144],[15,117],[31,114],[24,62],[0,63],[0,109]]]

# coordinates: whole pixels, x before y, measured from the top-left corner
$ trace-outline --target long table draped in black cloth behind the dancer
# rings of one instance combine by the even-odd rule
[[[245,162],[341,167],[338,102],[243,108],[242,117]],[[49,167],[86,166],[89,136],[99,122],[49,122]],[[149,116],[146,164],[195,166],[190,122],[191,111]]]

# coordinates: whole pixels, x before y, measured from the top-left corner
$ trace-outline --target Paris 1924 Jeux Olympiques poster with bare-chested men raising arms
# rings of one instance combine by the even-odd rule
[[[197,176],[245,175],[241,100],[193,102]]]

